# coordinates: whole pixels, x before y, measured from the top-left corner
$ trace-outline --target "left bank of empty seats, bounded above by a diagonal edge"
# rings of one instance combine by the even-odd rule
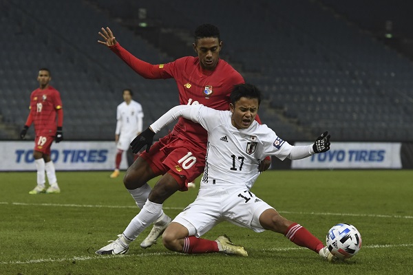
[[[3,1],[3,43],[0,68],[0,113],[3,121],[20,129],[28,115],[30,93],[40,67],[52,72],[51,85],[61,92],[67,140],[112,140],[116,106],[122,90],[134,90],[142,102],[147,125],[163,110],[178,104],[171,80],[151,82],[99,45],[100,27],[110,25],[118,40],[145,61],[165,63],[171,58],[121,28],[83,1]],[[153,97],[153,95],[156,95]],[[172,96],[170,96],[172,95]],[[153,102],[151,105],[145,102]],[[157,102],[157,103],[156,103]],[[155,108],[150,108],[155,107]],[[8,137],[13,138],[13,137]]]

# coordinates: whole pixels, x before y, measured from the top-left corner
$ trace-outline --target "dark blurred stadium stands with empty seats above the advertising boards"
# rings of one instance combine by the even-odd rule
[[[262,89],[262,121],[284,139],[328,129],[335,141],[412,142],[412,11],[401,0],[0,0],[0,140],[18,139],[40,67],[61,92],[65,140],[113,140],[125,87],[147,126],[178,104],[176,84],[138,76],[98,31],[157,64],[193,55],[194,28],[213,23],[222,58]]]

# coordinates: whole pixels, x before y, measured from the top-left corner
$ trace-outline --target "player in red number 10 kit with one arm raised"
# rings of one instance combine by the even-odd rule
[[[220,31],[214,25],[204,24],[196,28],[193,49],[198,57],[185,56],[160,65],[151,65],[131,55],[117,43],[109,28],[102,28],[99,34],[104,41],[98,43],[109,47],[140,76],[150,79],[174,78],[180,104],[204,104],[213,109],[228,110],[233,86],[244,83],[240,73],[220,59],[222,41]],[[207,131],[191,120],[180,118],[169,135],[151,146],[150,151],[142,153],[124,177],[125,187],[141,210],[118,240],[96,251],[96,254],[126,253],[129,243],[155,222],[147,238],[140,244],[142,248],[153,245],[171,222],[171,218],[162,210],[162,203],[174,192],[187,190],[187,184],[202,174],[206,148]],[[266,170],[269,165],[270,160],[266,159],[260,165],[260,170]],[[147,181],[158,175],[162,177],[151,190]]]

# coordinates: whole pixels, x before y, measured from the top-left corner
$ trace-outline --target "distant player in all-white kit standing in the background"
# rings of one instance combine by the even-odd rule
[[[135,100],[132,100],[131,89],[123,90],[124,102],[118,105],[116,109],[116,158],[115,158],[115,170],[110,177],[119,176],[120,162],[122,161],[122,154],[129,149],[129,144],[132,140],[142,132],[142,119],[143,111],[142,105]],[[135,155],[135,159],[138,154]]]

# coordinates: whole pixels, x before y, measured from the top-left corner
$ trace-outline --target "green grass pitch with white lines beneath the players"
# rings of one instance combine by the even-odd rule
[[[249,256],[184,255],[158,241],[142,250],[147,228],[123,256],[94,252],[116,239],[138,213],[122,177],[109,172],[57,172],[61,194],[29,195],[36,173],[0,173],[0,274],[411,274],[412,170],[282,170],[260,175],[253,192],[325,243],[328,229],[351,223],[362,248],[327,263],[282,234],[220,223],[204,235],[227,234]],[[123,174],[122,174],[123,175]],[[164,204],[175,217],[197,195],[177,192]],[[155,181],[151,181],[153,186]]]

